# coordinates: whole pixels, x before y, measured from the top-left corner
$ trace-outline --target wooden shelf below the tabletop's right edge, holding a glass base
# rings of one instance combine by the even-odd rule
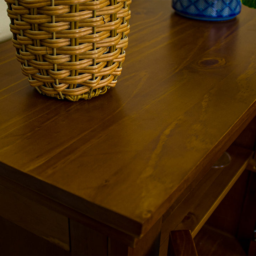
[[[210,168],[197,186],[173,210],[162,225],[160,255],[166,255],[171,230],[191,230],[194,238],[219,203],[245,170],[252,151],[231,145],[231,162],[223,168]]]

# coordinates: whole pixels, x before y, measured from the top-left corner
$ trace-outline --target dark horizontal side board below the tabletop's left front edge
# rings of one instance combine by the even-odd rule
[[[0,180],[0,215],[69,251],[68,218],[23,196],[22,191],[15,191],[4,181],[5,178]],[[24,189],[27,193],[27,188]]]

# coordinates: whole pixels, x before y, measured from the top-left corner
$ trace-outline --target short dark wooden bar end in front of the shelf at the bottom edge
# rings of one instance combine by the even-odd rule
[[[169,235],[169,256],[197,256],[190,230],[175,230]]]

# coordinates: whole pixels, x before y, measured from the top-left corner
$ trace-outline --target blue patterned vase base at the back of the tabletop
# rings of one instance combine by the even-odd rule
[[[240,0],[172,0],[180,15],[197,20],[224,21],[241,12]]]

